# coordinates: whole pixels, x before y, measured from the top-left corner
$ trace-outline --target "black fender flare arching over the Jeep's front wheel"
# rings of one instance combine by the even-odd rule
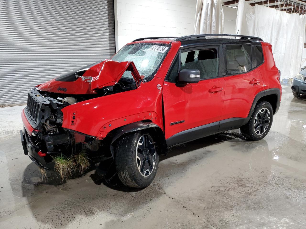
[[[160,126],[153,123],[153,122],[139,121],[139,122],[133,122],[133,123],[118,127],[116,129],[112,130],[108,134],[108,135],[112,136],[112,139],[110,141],[110,152],[112,154],[112,157],[115,158],[113,143],[118,138],[120,138],[122,135],[124,135],[126,133],[132,133],[132,132],[140,131],[140,130],[143,130],[143,129],[152,129],[156,132],[156,136],[161,143],[161,152],[159,154],[167,154],[168,147],[167,147],[167,144],[166,144],[166,138],[165,138],[165,134],[163,133]]]

